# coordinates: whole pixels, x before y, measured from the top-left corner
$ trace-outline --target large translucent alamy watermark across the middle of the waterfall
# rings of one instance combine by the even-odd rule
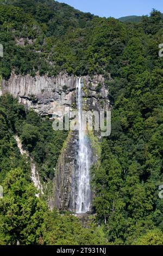
[[[111,111],[82,111],[79,121],[78,111],[70,111],[69,107],[65,107],[64,114],[60,113],[58,117],[53,115],[53,118],[55,131],[98,131],[102,137],[110,136],[111,133]]]

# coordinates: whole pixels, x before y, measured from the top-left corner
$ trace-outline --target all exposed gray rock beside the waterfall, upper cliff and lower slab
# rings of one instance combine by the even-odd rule
[[[76,76],[60,74],[57,77],[17,76],[12,74],[8,81],[2,81],[0,93],[8,92],[27,108],[33,108],[40,115],[62,117],[65,107],[70,111],[76,106]],[[83,77],[83,108],[89,111],[109,110],[108,89],[101,75]],[[78,157],[78,132],[70,132],[62,149],[55,170],[53,193],[49,198],[49,208],[60,210],[76,209]],[[92,155],[92,163],[98,160]]]

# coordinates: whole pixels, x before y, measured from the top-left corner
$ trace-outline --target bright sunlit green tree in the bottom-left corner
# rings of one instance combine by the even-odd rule
[[[35,196],[20,168],[11,170],[3,182],[4,197],[0,199],[1,242],[6,245],[39,243],[39,228],[47,210]]]

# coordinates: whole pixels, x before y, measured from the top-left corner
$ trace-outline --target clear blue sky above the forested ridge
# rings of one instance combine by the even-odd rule
[[[151,12],[152,8],[163,13],[162,0],[58,0],[58,2],[101,17],[146,15]]]

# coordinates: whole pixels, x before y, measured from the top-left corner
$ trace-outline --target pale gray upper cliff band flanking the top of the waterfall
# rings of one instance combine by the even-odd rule
[[[58,115],[64,113],[65,107],[76,106],[76,76],[67,74],[57,77],[47,76],[20,76],[12,74],[8,81],[2,81],[2,93],[9,92],[18,101],[27,108],[33,108],[41,115]],[[101,89],[100,93],[96,92],[99,83],[104,84],[104,78],[101,75],[90,78],[84,76],[88,103],[92,108],[97,105],[99,109],[99,95],[101,99],[106,99],[108,90]]]

